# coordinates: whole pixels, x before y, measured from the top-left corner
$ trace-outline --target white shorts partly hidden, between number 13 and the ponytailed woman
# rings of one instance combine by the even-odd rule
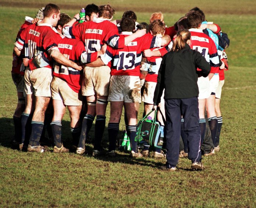
[[[153,98],[154,98],[154,90],[156,89],[156,82],[147,82],[145,81],[145,88],[142,96],[142,101],[144,103],[148,104],[154,104]],[[164,103],[164,90],[163,90],[163,95],[161,97],[161,102]]]

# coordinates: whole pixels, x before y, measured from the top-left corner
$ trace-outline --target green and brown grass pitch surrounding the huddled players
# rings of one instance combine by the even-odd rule
[[[74,0],[52,2],[61,5],[61,12],[72,16],[92,1],[82,6]],[[81,157],[72,153],[31,154],[12,150],[12,116],[17,103],[10,73],[13,43],[24,17],[33,17],[48,1],[0,2],[0,207],[256,207],[256,3],[187,2],[111,1],[117,10],[115,18],[120,18],[125,10],[134,9],[138,22],[147,22],[152,12],[163,11],[169,26],[190,8],[200,6],[206,18],[218,23],[230,37],[227,49],[230,69],[225,73],[221,97],[221,150],[203,158],[205,171],[190,171],[190,161],[182,158],[178,171],[171,173],[159,170],[164,159],[131,159],[121,152],[116,158],[96,159],[91,154]],[[209,5],[213,2],[216,7],[211,9]],[[139,118],[142,108],[141,105]],[[121,122],[120,130],[123,119]],[[93,132],[92,129],[92,137]],[[66,114],[63,139],[68,142],[70,138]],[[107,130],[104,141],[107,147]],[[86,148],[92,152],[92,145]]]

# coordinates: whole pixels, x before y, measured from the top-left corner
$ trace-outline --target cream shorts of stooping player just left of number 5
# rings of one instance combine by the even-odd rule
[[[63,101],[64,105],[82,105],[82,94],[72,90],[67,82],[56,76],[54,76],[51,81],[51,97],[53,100]]]

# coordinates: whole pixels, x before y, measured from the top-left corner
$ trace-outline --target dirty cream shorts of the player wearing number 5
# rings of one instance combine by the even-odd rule
[[[82,95],[108,96],[110,71],[108,66],[85,67],[83,69]]]

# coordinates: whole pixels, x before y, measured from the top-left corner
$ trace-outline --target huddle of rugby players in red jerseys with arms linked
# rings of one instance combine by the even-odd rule
[[[110,102],[107,155],[116,155],[124,107],[130,155],[148,157],[149,145],[143,145],[143,150],[138,151],[135,141],[139,104],[143,101],[145,115],[156,105],[164,112],[164,93],[160,100],[154,98],[158,71],[162,57],[173,50],[177,32],[182,30],[191,35],[191,49],[199,51],[210,65],[209,75],[198,78],[199,147],[205,144],[199,151],[205,156],[214,154],[220,149],[220,97],[224,69],[228,69],[227,34],[220,26],[206,22],[197,7],[171,27],[164,24],[161,12],[151,15],[149,25],[136,22],[133,11],[124,12],[121,20],[113,20],[114,12],[109,4],[99,7],[89,4],[85,7],[84,18],[80,18],[79,13],[70,18],[60,13],[55,4],[47,4],[35,19],[25,18],[13,52],[12,77],[18,92],[13,145],[19,150],[43,153],[46,151],[42,145],[43,135],[50,127],[48,135],[53,137],[53,152],[69,152],[61,141],[61,120],[67,106],[71,119],[70,151],[85,153],[85,142],[96,117],[92,155],[102,155],[106,107]],[[154,113],[150,116],[154,117]],[[164,125],[161,115],[157,115],[157,119]],[[181,123],[182,138],[178,154],[189,158],[186,121],[182,118],[177,122]],[[208,129],[210,137],[205,134]],[[155,147],[153,157],[164,158],[166,154]],[[201,158],[194,169],[203,169],[200,161]],[[174,167],[167,169],[174,171]]]

